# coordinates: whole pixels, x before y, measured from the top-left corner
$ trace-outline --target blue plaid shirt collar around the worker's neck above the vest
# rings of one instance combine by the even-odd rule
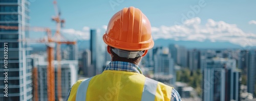
[[[124,61],[111,61],[108,65],[106,65],[105,70],[135,72],[142,74],[142,71],[138,65]]]

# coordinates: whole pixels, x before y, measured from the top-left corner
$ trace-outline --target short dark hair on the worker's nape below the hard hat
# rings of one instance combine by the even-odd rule
[[[112,51],[113,47],[110,46],[110,52],[112,54],[112,61],[124,61],[124,62],[130,62],[134,63],[136,65],[139,64],[140,60],[142,59],[142,56],[135,57],[135,58],[125,58],[125,57],[119,57],[116,53]]]

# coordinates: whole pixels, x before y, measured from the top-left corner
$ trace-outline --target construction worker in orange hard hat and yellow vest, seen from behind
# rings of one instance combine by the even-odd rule
[[[117,12],[103,41],[112,61],[102,74],[78,80],[68,100],[181,100],[173,87],[142,75],[138,64],[147,50],[153,48],[154,41],[150,21],[139,9],[129,7]]]

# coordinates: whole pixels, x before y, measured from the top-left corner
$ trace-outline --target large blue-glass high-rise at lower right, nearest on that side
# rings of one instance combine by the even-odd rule
[[[240,77],[236,60],[211,58],[203,72],[203,100],[238,100]]]

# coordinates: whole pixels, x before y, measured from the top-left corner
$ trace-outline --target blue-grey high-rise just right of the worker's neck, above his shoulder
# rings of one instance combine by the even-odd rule
[[[158,47],[154,54],[154,79],[175,85],[176,72],[174,60],[169,56],[168,48]]]

